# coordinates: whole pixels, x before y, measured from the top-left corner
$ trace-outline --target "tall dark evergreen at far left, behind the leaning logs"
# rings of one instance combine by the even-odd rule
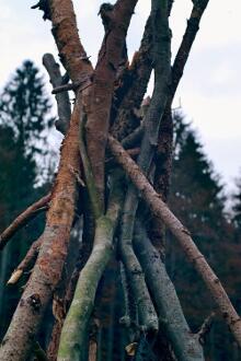
[[[36,186],[43,172],[46,139],[53,125],[44,81],[32,61],[24,61],[4,86],[0,100],[0,232],[22,210],[43,195]],[[41,166],[39,166],[41,165]],[[21,286],[7,288],[5,281],[43,229],[44,216],[21,230],[1,254],[0,337],[14,311]],[[7,271],[8,270],[8,271]]]

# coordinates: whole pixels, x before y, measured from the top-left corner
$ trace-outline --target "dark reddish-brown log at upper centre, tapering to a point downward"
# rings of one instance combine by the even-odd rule
[[[118,0],[101,7],[105,36],[94,70],[91,95],[85,98],[88,155],[93,171],[102,211],[104,211],[104,160],[110,126],[114,82],[123,57],[126,33],[137,0]]]

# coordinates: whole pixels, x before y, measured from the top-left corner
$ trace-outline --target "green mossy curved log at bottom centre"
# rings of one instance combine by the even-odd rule
[[[113,255],[113,236],[122,207],[120,180],[117,178],[115,182],[107,212],[96,220],[93,249],[80,272],[73,301],[62,327],[58,361],[82,361],[84,359],[88,324],[94,305],[96,288]]]

